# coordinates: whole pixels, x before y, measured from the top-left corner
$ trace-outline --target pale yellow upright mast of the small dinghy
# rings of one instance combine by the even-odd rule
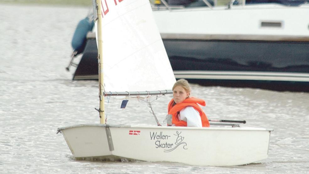
[[[102,60],[102,1],[96,0],[97,4],[97,37],[98,37],[98,70],[99,70],[99,95],[100,95],[100,124],[105,124],[104,114],[104,75],[103,75],[103,60]]]

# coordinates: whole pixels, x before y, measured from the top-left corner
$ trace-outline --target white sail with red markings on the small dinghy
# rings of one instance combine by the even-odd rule
[[[171,90],[175,77],[149,1],[102,1],[102,7],[98,49],[103,51],[104,90]]]

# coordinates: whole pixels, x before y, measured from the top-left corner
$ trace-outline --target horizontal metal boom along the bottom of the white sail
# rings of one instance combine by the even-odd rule
[[[140,95],[165,95],[172,94],[172,90],[158,91],[132,91],[132,92],[104,92],[104,96],[140,96]]]

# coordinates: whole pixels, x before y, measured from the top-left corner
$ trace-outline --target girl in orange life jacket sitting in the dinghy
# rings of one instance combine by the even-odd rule
[[[187,80],[179,79],[174,84],[173,99],[168,104],[168,114],[172,115],[172,125],[209,127],[208,118],[199,106],[205,106],[205,101],[190,97],[190,92],[191,88]]]

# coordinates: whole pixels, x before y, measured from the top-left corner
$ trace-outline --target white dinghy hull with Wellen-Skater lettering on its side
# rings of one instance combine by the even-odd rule
[[[244,165],[266,159],[265,128],[76,125],[58,129],[75,158],[169,161],[199,166]]]

